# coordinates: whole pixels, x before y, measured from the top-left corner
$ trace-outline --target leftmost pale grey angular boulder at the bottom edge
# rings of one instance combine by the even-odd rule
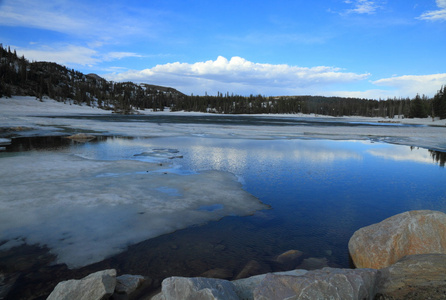
[[[80,280],[59,282],[47,300],[101,300],[110,297],[116,286],[116,270],[88,275]]]

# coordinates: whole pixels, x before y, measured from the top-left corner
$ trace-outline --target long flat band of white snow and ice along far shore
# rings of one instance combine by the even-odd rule
[[[139,111],[143,115],[157,116],[197,116],[206,115],[197,112],[151,112]],[[239,115],[244,117],[268,117],[287,119],[314,119],[327,122],[327,126],[259,126],[234,124],[176,124],[148,122],[102,122],[92,119],[68,119],[61,116],[74,115],[111,115],[111,111],[79,105],[69,105],[51,99],[43,102],[34,97],[16,96],[0,98],[0,127],[25,127],[33,130],[17,132],[17,135],[57,135],[66,132],[90,131],[109,135],[126,136],[177,136],[177,135],[213,135],[222,138],[325,138],[325,139],[371,139],[402,145],[423,147],[446,151],[446,120],[425,119],[385,119],[367,117],[329,117],[321,115],[281,114],[281,115]],[[208,114],[210,117],[217,116]],[[50,117],[51,118],[48,118]],[[56,116],[56,117],[55,117]],[[338,126],[331,126],[330,122]],[[339,126],[345,123],[345,126]],[[407,126],[351,126],[355,123],[397,123],[425,125]]]

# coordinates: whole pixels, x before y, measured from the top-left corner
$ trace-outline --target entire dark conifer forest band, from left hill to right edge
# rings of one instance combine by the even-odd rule
[[[305,113],[330,116],[446,118],[446,87],[434,98],[371,100],[323,96],[248,97],[229,94],[187,96],[168,87],[111,82],[98,75],[51,62],[29,62],[0,44],[0,97],[29,95],[42,99],[94,105],[130,113],[132,109],[199,111],[223,114]]]

